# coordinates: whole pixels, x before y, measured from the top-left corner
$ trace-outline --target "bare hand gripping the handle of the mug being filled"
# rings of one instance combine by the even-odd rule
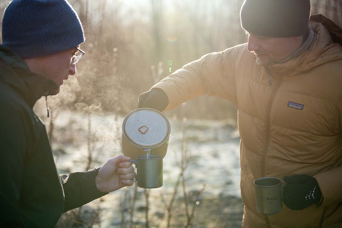
[[[111,192],[125,186],[132,186],[135,177],[129,157],[118,155],[109,159],[98,171],[95,178],[96,188],[101,192]]]

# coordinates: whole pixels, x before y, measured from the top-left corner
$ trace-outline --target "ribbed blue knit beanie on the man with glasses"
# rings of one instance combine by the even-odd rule
[[[13,0],[2,20],[2,44],[22,58],[75,48],[85,40],[80,19],[66,0]]]

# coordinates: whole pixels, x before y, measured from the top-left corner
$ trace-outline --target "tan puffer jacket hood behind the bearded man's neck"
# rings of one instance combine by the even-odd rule
[[[269,65],[273,75],[297,75],[301,71],[342,59],[342,29],[321,14],[312,15],[310,25],[315,34],[310,48],[286,63]]]

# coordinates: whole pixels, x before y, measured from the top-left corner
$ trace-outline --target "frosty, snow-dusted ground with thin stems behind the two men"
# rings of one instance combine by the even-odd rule
[[[95,160],[92,168],[101,166],[106,160],[121,153],[120,138],[121,124],[123,116],[115,115],[82,115],[78,112],[62,112],[54,120],[52,149],[56,165],[60,173],[68,174],[70,172],[85,171],[88,156],[88,124],[91,123],[91,141],[92,157]],[[185,172],[186,190],[196,191],[206,185],[205,191],[201,195],[203,200],[196,209],[201,217],[210,217],[210,213],[218,213],[224,211],[228,214],[234,211],[236,220],[242,220],[240,211],[240,159],[239,159],[239,142],[240,138],[237,131],[236,122],[233,120],[210,121],[210,120],[179,120],[169,118],[171,123],[171,136],[167,155],[163,160],[163,186],[150,190],[150,209],[151,219],[153,221],[161,220],[165,217],[165,210],[162,208],[162,198],[166,201],[173,192],[174,184],[180,173],[180,167],[177,162],[181,156],[181,139],[186,138],[188,156],[190,158],[189,165]],[[44,120],[49,131],[49,121]],[[183,122],[183,123],[182,123]],[[185,124],[185,132],[182,132],[182,124]],[[130,193],[133,191],[130,189]],[[136,220],[144,220],[143,208],[144,189],[138,188],[137,202],[135,209],[137,210]],[[182,197],[182,190],[179,189],[177,199]],[[120,227],[120,202],[125,190],[118,190],[109,193],[101,203],[102,214],[101,227]],[[211,206],[209,210],[203,208],[205,204],[214,202],[218,199],[225,199],[229,202],[223,202],[223,208],[218,208],[215,212],[215,206]],[[208,201],[209,200],[209,201]],[[230,202],[233,205],[230,205]],[[181,202],[179,202],[181,203]],[[220,205],[220,200],[215,205]],[[96,207],[98,202],[92,202],[89,205]],[[238,206],[236,204],[239,204]],[[209,204],[208,204],[209,205]],[[202,206],[202,209],[200,209]],[[234,207],[234,209],[232,209]],[[236,208],[238,212],[236,212]],[[139,209],[141,209],[139,212]],[[241,208],[242,210],[242,208]],[[177,213],[176,213],[177,214]],[[181,212],[179,213],[182,214]],[[156,216],[157,215],[157,216]],[[180,216],[179,215],[179,216]],[[217,215],[218,216],[218,215]],[[195,218],[198,218],[195,216]],[[214,218],[214,217],[213,217]],[[180,218],[181,219],[181,218]],[[216,218],[216,220],[219,218]],[[222,218],[221,218],[222,219]],[[197,219],[196,219],[197,220]],[[229,222],[229,218],[225,220]],[[210,221],[209,221],[210,222]],[[224,219],[220,224],[226,227]],[[241,224],[241,222],[238,222]],[[153,223],[150,223],[153,224]],[[208,227],[210,223],[206,223],[203,227]],[[215,223],[216,224],[216,223]],[[219,227],[219,225],[213,227]],[[225,224],[225,225],[223,225]],[[154,225],[159,227],[159,225]],[[162,226],[162,225],[160,225]],[[230,225],[229,225],[230,226]],[[136,226],[136,227],[139,227]],[[150,226],[153,227],[153,226]],[[175,226],[176,227],[176,226]],[[201,227],[194,223],[194,227]],[[231,226],[234,227],[234,226]]]

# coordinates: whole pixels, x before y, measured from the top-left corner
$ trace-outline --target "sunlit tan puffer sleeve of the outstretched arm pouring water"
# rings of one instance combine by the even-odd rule
[[[237,104],[236,59],[243,48],[243,45],[238,45],[222,52],[204,55],[175,71],[151,89],[162,89],[168,96],[169,105],[165,111],[204,94],[217,95]]]

